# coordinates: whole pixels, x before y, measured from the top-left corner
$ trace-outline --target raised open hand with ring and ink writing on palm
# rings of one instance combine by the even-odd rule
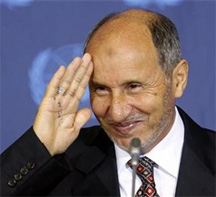
[[[78,105],[92,71],[91,56],[86,53],[67,68],[61,66],[47,87],[33,128],[51,155],[65,152],[90,119],[91,110],[78,111]]]

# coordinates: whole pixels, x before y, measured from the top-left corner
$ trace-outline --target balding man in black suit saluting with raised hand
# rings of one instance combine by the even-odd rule
[[[2,154],[2,195],[131,196],[128,151],[139,138],[154,168],[151,183],[136,177],[137,196],[214,196],[215,133],[175,107],[188,64],[173,23],[146,10],[110,15],[84,51],[55,73],[33,127]],[[81,129],[88,82],[101,127]]]

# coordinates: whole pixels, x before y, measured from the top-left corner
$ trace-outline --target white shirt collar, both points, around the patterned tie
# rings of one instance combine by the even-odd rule
[[[158,168],[177,178],[184,141],[184,124],[177,108],[175,108],[175,112],[175,120],[169,133],[145,156],[157,163]],[[118,172],[120,173],[125,169],[125,164],[131,157],[128,152],[121,149],[117,144],[114,145]]]

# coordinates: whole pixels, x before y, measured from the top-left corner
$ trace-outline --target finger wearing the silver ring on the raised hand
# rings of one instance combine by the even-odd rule
[[[77,72],[77,69],[79,65],[81,64],[82,60],[80,57],[76,57],[67,67],[67,70],[61,79],[59,83],[59,87],[61,87],[61,94],[64,94],[64,92],[71,86],[71,82],[73,80],[73,77],[75,73]]]

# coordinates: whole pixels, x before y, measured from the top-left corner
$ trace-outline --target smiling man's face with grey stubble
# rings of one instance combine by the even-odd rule
[[[128,36],[110,36],[90,43],[94,72],[91,105],[100,124],[120,147],[134,137],[145,151],[169,131],[174,119],[172,86],[158,65],[151,37],[142,44]]]

